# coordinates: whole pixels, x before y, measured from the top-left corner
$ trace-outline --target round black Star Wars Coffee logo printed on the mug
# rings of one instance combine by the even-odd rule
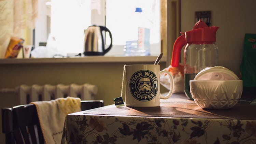
[[[150,101],[156,96],[157,84],[157,77],[152,71],[138,71],[130,79],[130,91],[137,100]]]

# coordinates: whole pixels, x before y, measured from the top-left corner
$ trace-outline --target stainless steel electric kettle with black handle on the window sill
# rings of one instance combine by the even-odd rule
[[[105,49],[102,31],[109,32],[111,43]],[[85,31],[84,37],[84,55],[85,56],[103,56],[112,47],[112,34],[110,30],[104,26],[89,26]]]

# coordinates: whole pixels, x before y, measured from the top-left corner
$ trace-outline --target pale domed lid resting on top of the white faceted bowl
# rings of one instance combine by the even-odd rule
[[[222,66],[215,66],[201,70],[194,80],[239,80],[239,78],[229,69]]]

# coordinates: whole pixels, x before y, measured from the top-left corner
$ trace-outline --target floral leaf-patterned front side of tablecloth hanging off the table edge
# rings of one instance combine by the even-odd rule
[[[256,143],[255,120],[68,115],[66,143]]]

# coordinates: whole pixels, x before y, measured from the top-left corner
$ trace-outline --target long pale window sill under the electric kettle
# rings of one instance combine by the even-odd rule
[[[108,63],[108,62],[155,62],[157,56],[87,56],[76,58],[33,58],[33,59],[0,59],[0,64],[28,64],[28,63]],[[166,62],[163,56],[161,62]]]

